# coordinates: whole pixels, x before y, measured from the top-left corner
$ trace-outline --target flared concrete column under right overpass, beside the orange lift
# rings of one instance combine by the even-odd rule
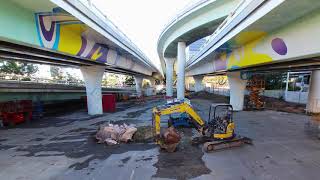
[[[243,110],[244,93],[247,85],[247,80],[242,80],[240,72],[228,72],[228,81],[230,86],[230,104],[233,110]]]

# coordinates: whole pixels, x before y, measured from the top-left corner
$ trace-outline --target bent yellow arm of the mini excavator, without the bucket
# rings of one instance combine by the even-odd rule
[[[169,115],[172,113],[187,113],[190,115],[193,123],[197,127],[197,130],[200,133],[204,133],[205,121],[196,113],[193,108],[186,102],[180,104],[174,104],[171,106],[165,107],[155,107],[152,110],[153,112],[153,123],[155,127],[156,136],[160,136],[160,120],[162,115]]]

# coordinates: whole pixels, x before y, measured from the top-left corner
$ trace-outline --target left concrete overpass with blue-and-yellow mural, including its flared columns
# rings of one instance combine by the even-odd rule
[[[80,67],[89,114],[101,114],[105,71],[161,78],[153,63],[90,1],[0,0],[0,58]]]

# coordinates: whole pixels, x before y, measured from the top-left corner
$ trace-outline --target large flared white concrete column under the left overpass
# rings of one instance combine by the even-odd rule
[[[101,82],[105,68],[103,66],[82,66],[80,70],[86,85],[88,114],[103,114]]]

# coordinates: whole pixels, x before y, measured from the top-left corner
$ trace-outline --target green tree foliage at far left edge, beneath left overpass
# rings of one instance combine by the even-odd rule
[[[38,66],[17,61],[1,61],[0,72],[5,74],[14,74],[30,77],[32,74],[38,71]]]

